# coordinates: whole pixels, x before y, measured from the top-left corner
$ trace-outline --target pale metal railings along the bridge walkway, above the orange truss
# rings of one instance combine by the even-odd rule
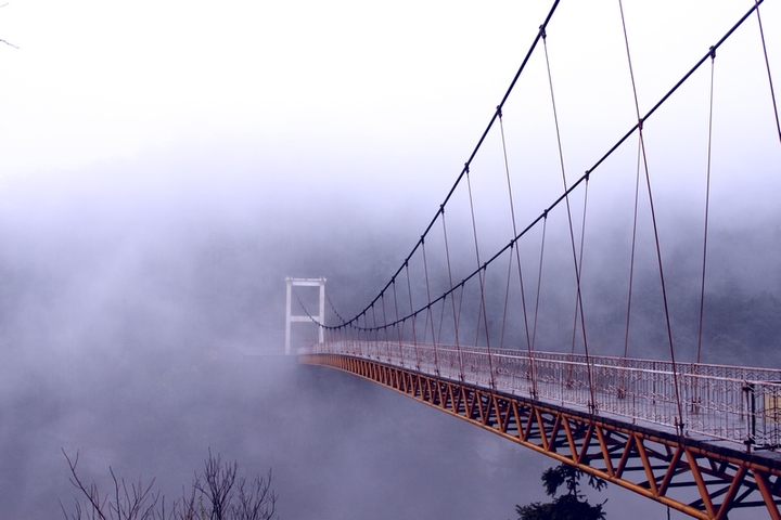
[[[631,422],[774,450],[781,443],[781,370],[399,341],[331,341],[300,351],[372,360],[445,379],[613,414]],[[490,354],[490,355],[489,355]],[[590,379],[593,384],[591,403]],[[678,421],[675,385],[682,399]]]

